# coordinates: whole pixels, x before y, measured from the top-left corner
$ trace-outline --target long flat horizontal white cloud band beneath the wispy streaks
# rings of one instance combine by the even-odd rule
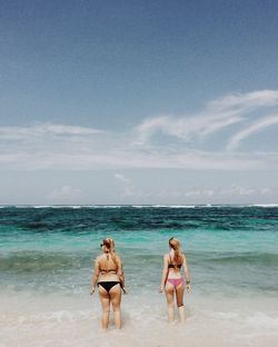
[[[76,151],[76,152],[75,152]],[[111,152],[85,153],[72,148],[70,152],[36,152],[0,155],[2,168],[18,170],[98,170],[98,169],[139,169],[139,168],[180,168],[180,169],[216,169],[216,170],[255,170],[266,169],[265,156],[258,158],[227,157],[219,153],[186,152],[177,149],[169,152],[140,152],[127,149]]]

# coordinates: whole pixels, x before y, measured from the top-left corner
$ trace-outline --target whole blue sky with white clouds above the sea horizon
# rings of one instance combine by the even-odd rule
[[[0,0],[0,204],[278,204],[278,3]]]

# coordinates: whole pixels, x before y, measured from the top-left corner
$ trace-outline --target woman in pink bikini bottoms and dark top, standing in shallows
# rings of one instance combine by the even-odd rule
[[[190,277],[187,267],[186,256],[181,251],[180,242],[177,238],[169,239],[170,252],[163,256],[163,271],[160,285],[160,293],[165,290],[168,305],[168,319],[173,321],[175,308],[173,297],[176,294],[177,306],[180,321],[185,321],[183,293],[185,279],[181,277],[180,269],[183,267],[186,277],[187,293],[190,291]]]

